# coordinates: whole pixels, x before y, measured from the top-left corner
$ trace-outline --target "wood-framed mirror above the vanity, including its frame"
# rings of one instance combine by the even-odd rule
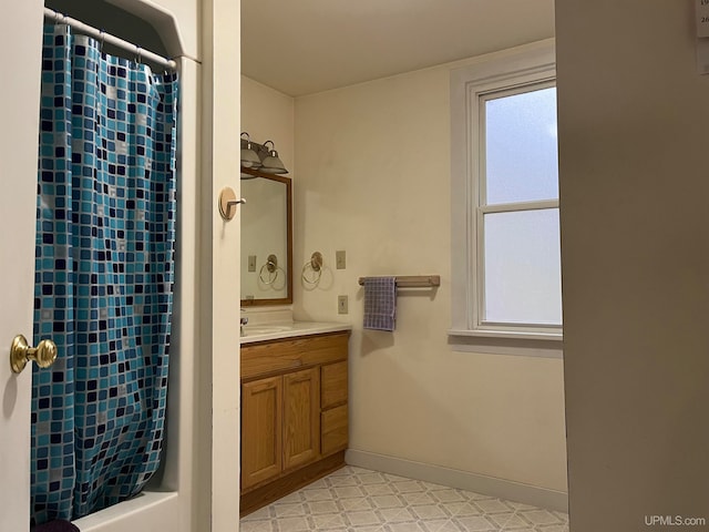
[[[242,167],[242,306],[292,303],[290,177]]]

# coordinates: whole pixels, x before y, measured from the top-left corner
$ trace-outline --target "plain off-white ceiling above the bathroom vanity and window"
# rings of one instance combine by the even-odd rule
[[[291,96],[554,35],[554,0],[242,0],[242,72]]]

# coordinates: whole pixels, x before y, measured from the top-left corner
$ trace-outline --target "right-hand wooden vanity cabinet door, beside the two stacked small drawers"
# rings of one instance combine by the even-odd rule
[[[284,375],[284,469],[320,454],[320,368]]]

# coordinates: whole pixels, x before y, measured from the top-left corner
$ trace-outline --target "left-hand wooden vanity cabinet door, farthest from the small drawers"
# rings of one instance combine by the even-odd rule
[[[242,489],[282,469],[282,377],[242,385]]]

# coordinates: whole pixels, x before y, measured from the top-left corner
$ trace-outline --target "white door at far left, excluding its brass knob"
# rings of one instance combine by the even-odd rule
[[[0,530],[30,528],[32,371],[10,370],[14,335],[32,338],[42,0],[3,10],[0,31]]]

